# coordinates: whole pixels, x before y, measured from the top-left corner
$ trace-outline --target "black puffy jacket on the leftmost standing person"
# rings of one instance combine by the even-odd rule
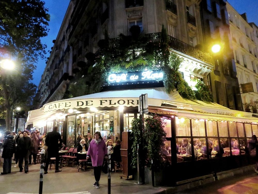
[[[12,134],[5,136],[3,140],[3,154],[2,158],[11,158],[15,152],[15,140]]]

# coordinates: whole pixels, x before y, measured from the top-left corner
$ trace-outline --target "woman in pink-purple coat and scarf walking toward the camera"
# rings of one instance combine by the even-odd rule
[[[88,153],[86,159],[91,157],[92,166],[94,169],[95,183],[93,186],[99,188],[99,180],[101,175],[101,167],[103,164],[104,158],[107,159],[107,146],[105,141],[102,139],[100,132],[94,133],[94,139],[90,143],[90,147],[88,148]]]

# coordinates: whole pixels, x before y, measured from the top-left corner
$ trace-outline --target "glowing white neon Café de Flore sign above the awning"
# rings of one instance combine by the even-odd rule
[[[131,81],[147,81],[155,80],[159,81],[163,79],[163,73],[161,71],[144,71],[133,73],[112,73],[108,76],[109,83],[121,83]]]

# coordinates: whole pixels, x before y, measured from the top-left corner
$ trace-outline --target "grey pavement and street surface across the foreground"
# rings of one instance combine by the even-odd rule
[[[14,165],[14,163],[13,163]],[[1,165],[0,165],[1,166]],[[12,173],[0,175],[0,194],[38,193],[40,164],[29,165],[29,173],[19,172],[19,168],[12,167]],[[2,168],[0,168],[2,171]],[[107,193],[107,174],[102,173],[100,188],[93,186],[95,182],[93,168],[88,167],[79,171],[74,167],[64,167],[59,173],[54,167],[43,175],[43,194],[104,194]],[[220,193],[220,194],[257,194],[258,175],[253,167],[243,167],[227,172],[218,173],[217,177],[204,177],[182,182],[176,187],[152,187],[152,185],[135,185],[134,180],[120,178],[121,172],[111,173],[111,193]]]

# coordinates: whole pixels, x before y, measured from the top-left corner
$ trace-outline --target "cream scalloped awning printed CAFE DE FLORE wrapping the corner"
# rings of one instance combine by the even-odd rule
[[[138,107],[139,96],[146,93],[148,94],[149,109],[153,112],[157,111],[168,115],[174,114],[179,118],[189,119],[258,122],[257,118],[252,117],[252,113],[231,110],[217,103],[185,100],[177,91],[167,94],[165,88],[147,88],[106,91],[50,102],[41,109],[29,111],[27,123],[33,123],[36,126],[35,124],[47,121],[51,116],[59,114],[60,111],[64,112],[67,109],[82,110],[91,107],[101,109],[119,106]]]

